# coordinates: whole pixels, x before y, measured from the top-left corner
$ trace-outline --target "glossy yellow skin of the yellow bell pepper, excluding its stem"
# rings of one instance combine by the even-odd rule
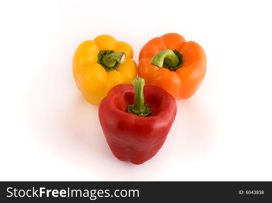
[[[125,52],[125,62],[120,63],[117,70],[107,71],[98,63],[98,54],[102,50]],[[98,105],[112,87],[122,83],[131,84],[137,76],[137,64],[132,58],[131,46],[109,35],[82,42],[74,53],[72,69],[75,83],[83,97],[90,104]]]

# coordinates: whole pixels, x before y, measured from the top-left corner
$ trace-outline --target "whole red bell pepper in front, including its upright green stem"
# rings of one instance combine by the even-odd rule
[[[98,114],[114,156],[142,164],[163,146],[176,117],[176,101],[160,87],[144,87],[143,78],[134,78],[132,84],[113,87]]]

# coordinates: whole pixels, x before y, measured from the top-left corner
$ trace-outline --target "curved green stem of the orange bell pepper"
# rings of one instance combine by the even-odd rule
[[[161,51],[151,59],[151,64],[158,68],[168,68],[169,70],[178,69],[183,63],[183,55],[177,50],[166,49]]]

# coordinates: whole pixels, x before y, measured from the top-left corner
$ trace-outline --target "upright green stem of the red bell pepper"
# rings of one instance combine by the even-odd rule
[[[145,82],[143,78],[137,77],[133,79],[132,85],[134,87],[134,104],[128,105],[129,113],[134,113],[138,116],[147,116],[152,112],[148,105],[144,104],[144,84]]]

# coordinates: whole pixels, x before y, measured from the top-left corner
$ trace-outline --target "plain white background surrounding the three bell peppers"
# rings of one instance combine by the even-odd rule
[[[6,1],[0,6],[0,180],[272,180],[269,1]],[[109,34],[134,60],[176,32],[206,52],[197,93],[177,100],[168,138],[151,160],[117,160],[98,107],[72,76],[84,40]]]

